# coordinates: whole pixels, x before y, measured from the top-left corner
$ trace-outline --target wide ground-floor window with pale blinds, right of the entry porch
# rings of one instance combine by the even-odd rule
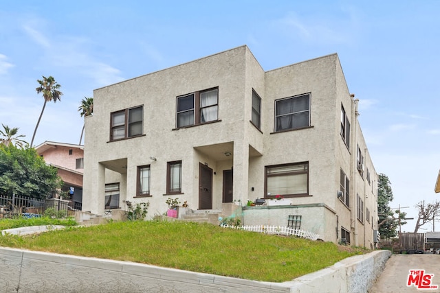
[[[267,166],[266,197],[306,196],[309,194],[309,163]]]

